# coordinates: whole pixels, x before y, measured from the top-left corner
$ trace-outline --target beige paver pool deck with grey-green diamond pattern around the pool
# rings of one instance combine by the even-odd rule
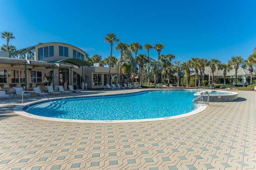
[[[82,91],[72,95],[138,90]],[[256,93],[235,92],[239,93],[236,101],[210,103],[196,115],[141,123],[32,119],[13,112],[21,99],[1,99],[0,169],[255,170]],[[24,101],[38,99],[41,97]]]

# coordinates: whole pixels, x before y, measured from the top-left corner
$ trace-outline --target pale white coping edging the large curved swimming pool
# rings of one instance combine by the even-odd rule
[[[81,98],[81,97],[95,97],[95,96],[110,96],[110,95],[124,95],[124,94],[132,94],[132,93],[140,93],[143,91],[152,91],[152,90],[161,90],[161,91],[166,91],[167,89],[141,89],[139,91],[136,92],[125,92],[125,93],[116,93],[116,94],[93,94],[93,95],[80,95],[80,96],[76,96],[76,97],[62,97],[62,99],[72,99],[72,98]],[[168,90],[177,90],[177,89],[168,89]],[[181,89],[179,89],[181,90]],[[182,90],[189,90],[189,91],[195,91],[195,90],[191,90],[191,89],[182,89]],[[51,99],[52,101],[55,100],[61,100],[59,97],[53,98]],[[162,118],[153,118],[153,119],[133,119],[133,120],[100,120],[100,121],[95,121],[95,120],[78,120],[78,119],[61,119],[61,118],[52,118],[52,117],[42,117],[42,116],[38,116],[38,115],[33,115],[31,113],[27,113],[25,111],[23,111],[24,107],[29,107],[29,105],[32,105],[34,103],[42,103],[44,101],[47,101],[47,99],[43,99],[40,101],[33,101],[33,102],[29,102],[26,104],[22,104],[19,105],[17,107],[14,108],[14,112],[18,115],[24,116],[24,117],[29,117],[32,119],[40,119],[40,120],[45,120],[45,121],[56,121],[56,122],[69,122],[69,123],[138,123],[138,122],[151,122],[151,121],[163,121],[163,120],[170,120],[170,119],[178,119],[178,118],[182,118],[182,117],[188,117],[191,115],[196,115],[202,111],[204,111],[207,106],[204,104],[196,104],[196,107],[193,111],[182,114],[182,115],[176,115],[176,116],[171,116],[171,117],[162,117]]]

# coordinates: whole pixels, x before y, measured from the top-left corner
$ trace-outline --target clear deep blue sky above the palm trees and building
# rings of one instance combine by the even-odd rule
[[[105,58],[108,33],[142,46],[163,43],[176,60],[232,56],[256,47],[256,0],[1,0],[0,32],[12,32],[17,49],[63,42]],[[0,39],[0,45],[6,40]],[[115,47],[116,43],[114,43]],[[139,53],[147,53],[140,50]],[[113,50],[119,57],[120,52]],[[150,57],[158,53],[151,49]]]

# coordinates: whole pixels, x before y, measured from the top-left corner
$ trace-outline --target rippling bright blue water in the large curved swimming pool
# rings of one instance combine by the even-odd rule
[[[191,110],[194,91],[144,91],[40,103],[24,111],[62,119],[134,120],[182,115]]]

